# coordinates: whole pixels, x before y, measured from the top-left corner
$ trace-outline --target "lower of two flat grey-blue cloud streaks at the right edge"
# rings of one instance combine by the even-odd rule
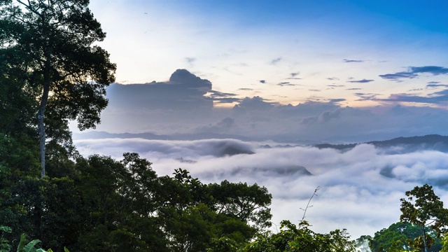
[[[373,99],[379,102],[416,102],[425,104],[448,104],[448,89],[433,92],[428,96],[418,96],[412,94],[391,94],[388,99]]]

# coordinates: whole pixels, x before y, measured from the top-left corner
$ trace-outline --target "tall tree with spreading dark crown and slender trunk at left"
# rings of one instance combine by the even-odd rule
[[[45,122],[78,120],[94,127],[107,106],[106,86],[116,65],[94,45],[106,37],[89,0],[2,0],[0,60],[24,87],[38,90],[36,111],[41,178],[45,176]],[[20,74],[18,77],[17,75]],[[45,111],[50,111],[47,113]]]

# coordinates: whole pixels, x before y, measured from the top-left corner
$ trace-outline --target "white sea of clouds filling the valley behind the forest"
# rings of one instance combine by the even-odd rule
[[[360,144],[348,151],[235,139],[163,141],[78,139],[78,151],[121,159],[139,153],[159,176],[187,169],[203,183],[257,183],[272,193],[272,229],[281,220],[298,223],[316,188],[305,219],[316,232],[346,228],[351,237],[374,235],[400,219],[400,198],[428,183],[448,204],[448,153],[391,151]],[[266,148],[266,144],[272,148]],[[393,148],[402,148],[395,146]],[[229,153],[253,153],[228,155]]]

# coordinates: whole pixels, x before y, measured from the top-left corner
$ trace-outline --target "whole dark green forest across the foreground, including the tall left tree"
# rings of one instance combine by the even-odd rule
[[[69,120],[99,123],[116,69],[88,4],[0,3],[0,251],[448,250],[448,210],[428,185],[406,193],[402,222],[353,241],[305,218],[269,231],[272,195],[257,184],[158,176],[137,153],[79,155]]]

